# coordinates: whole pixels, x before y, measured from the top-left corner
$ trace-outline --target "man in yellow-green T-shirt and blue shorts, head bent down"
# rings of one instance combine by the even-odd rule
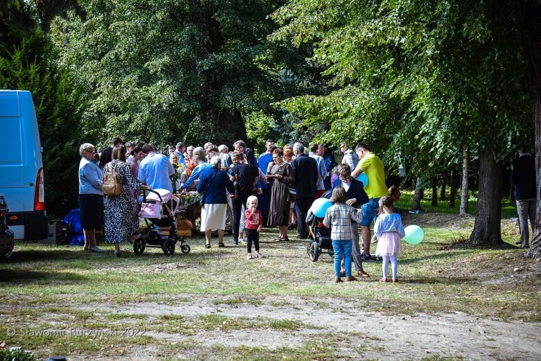
[[[363,261],[369,261],[375,259],[375,261],[381,261],[380,258],[372,258],[370,254],[370,224],[380,209],[380,198],[389,193],[387,186],[385,185],[385,173],[383,170],[383,163],[381,159],[370,151],[369,146],[365,143],[357,144],[355,147],[355,153],[359,157],[359,163],[353,172],[352,178],[357,178],[361,173],[366,173],[368,178],[368,185],[364,188],[366,194],[369,196],[369,202],[362,206],[362,248],[363,248]]]

